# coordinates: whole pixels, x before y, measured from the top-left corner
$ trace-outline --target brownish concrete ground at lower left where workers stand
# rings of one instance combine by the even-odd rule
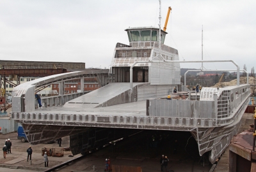
[[[12,154],[7,154],[6,159],[3,157],[3,146],[5,140],[10,139],[12,141]],[[9,134],[0,134],[0,167],[17,167],[18,169],[31,169],[34,171],[44,171],[44,157],[42,156],[42,148],[65,148],[69,147],[69,138],[63,138],[61,147],[58,146],[57,142],[52,144],[38,144],[38,145],[31,145],[33,150],[31,164],[27,161],[28,153],[26,152],[29,148],[29,143],[25,142],[22,143],[20,140],[17,139],[17,133],[9,133]],[[2,152],[2,153],[1,153]],[[62,162],[69,161],[70,159],[74,159],[74,157],[78,157],[80,155],[74,157],[68,157],[68,155],[72,155],[70,151],[64,152],[63,157],[51,157],[49,156],[49,168],[52,166],[56,166]]]

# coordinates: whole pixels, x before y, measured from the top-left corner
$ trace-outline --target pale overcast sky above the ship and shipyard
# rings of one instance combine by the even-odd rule
[[[234,60],[255,65],[256,1],[162,0],[163,29],[172,6],[165,44],[180,60]],[[85,62],[109,68],[116,43],[129,44],[127,27],[158,27],[158,0],[0,1],[0,60]],[[201,64],[181,64],[200,68]],[[236,69],[230,62],[206,69]]]

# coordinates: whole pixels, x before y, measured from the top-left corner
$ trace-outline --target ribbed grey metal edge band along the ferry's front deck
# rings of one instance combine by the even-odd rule
[[[238,119],[238,113],[235,117],[225,120],[212,118],[188,118],[188,117],[148,117],[140,116],[121,116],[121,115],[81,115],[65,114],[65,113],[35,113],[35,112],[13,112],[12,118],[19,121],[31,121],[38,123],[40,120],[46,124],[54,124],[54,122],[67,122],[65,125],[81,125],[95,126],[103,123],[109,126],[122,128],[156,128],[163,127],[163,129],[177,129],[192,131],[196,127],[220,127],[234,123]]]

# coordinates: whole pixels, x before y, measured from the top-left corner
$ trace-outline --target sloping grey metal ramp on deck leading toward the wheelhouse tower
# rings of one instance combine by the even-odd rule
[[[104,87],[68,101],[63,108],[97,108],[131,103],[138,101],[138,87],[141,88],[146,85],[149,85],[149,83],[133,83],[131,91],[130,83],[109,83]]]

